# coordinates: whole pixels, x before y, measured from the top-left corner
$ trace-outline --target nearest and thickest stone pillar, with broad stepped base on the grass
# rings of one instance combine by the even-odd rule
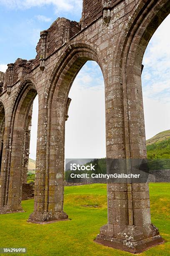
[[[133,172],[133,161],[146,159],[141,66],[127,83],[114,75],[105,84],[107,158],[126,159],[123,168]],[[148,182],[107,184],[107,200],[108,223],[100,229],[98,243],[131,253],[163,243],[151,223]]]

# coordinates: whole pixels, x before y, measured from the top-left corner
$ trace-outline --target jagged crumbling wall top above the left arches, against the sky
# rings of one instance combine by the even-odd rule
[[[10,80],[11,85],[13,85],[19,80],[23,79],[23,77],[25,77],[27,74],[30,74],[32,69],[40,64],[40,59],[46,59],[48,56],[53,54],[63,44],[68,42],[71,37],[75,36],[75,34],[77,34],[79,31],[81,31],[80,23],[77,23],[76,21],[70,21],[66,18],[57,18],[57,20],[52,23],[50,28],[48,28],[46,31],[42,31],[46,34],[46,39],[43,44],[42,37],[38,41],[38,44],[36,46],[37,55],[35,59],[27,61],[26,59],[18,58],[13,64],[12,73],[10,73],[9,69],[7,69],[5,73],[0,72],[0,82],[1,80],[4,81],[3,86],[1,82],[1,87],[3,87],[3,91],[5,91],[9,86]],[[0,92],[2,92],[2,90]]]

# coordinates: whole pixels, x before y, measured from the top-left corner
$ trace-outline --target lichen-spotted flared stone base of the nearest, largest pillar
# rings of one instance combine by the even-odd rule
[[[116,235],[111,235],[112,224],[109,224],[109,229],[107,224],[101,228],[100,234],[98,234],[95,241],[122,251],[141,253],[150,247],[164,243],[158,229],[152,224],[150,224],[149,229],[150,228],[153,229],[153,236],[145,237],[147,236],[148,230],[145,230],[144,233],[143,227],[140,229],[139,227],[129,226],[123,232],[117,233],[116,235],[118,235],[118,237],[116,237]],[[103,234],[103,230],[106,234]]]

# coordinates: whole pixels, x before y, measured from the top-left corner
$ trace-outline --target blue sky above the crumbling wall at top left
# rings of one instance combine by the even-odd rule
[[[81,5],[81,0],[0,0],[0,64],[35,58],[40,31],[58,17],[79,21]]]

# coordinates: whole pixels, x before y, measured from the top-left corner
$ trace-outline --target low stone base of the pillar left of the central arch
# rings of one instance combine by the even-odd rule
[[[65,212],[33,212],[28,222],[36,224],[50,224],[58,221],[69,220]]]

